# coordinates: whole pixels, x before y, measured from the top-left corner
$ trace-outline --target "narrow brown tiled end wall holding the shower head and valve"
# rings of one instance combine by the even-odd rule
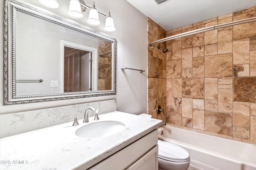
[[[165,37],[166,31],[148,18],[148,44]],[[166,48],[166,42],[154,45],[153,49],[148,45],[148,114],[166,122],[166,53],[158,49],[158,45]],[[156,113],[158,106],[164,113]]]

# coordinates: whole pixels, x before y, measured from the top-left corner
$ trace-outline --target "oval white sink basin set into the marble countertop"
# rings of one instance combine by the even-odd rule
[[[120,121],[99,121],[80,127],[75,134],[82,138],[100,138],[114,135],[124,128],[125,124]]]

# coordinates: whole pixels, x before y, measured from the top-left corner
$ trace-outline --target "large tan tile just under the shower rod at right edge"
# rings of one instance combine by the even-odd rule
[[[234,19],[234,17],[233,17]],[[256,36],[256,22],[248,22],[233,26],[233,39],[244,39]]]

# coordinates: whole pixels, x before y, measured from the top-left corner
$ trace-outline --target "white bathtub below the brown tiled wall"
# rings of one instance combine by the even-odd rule
[[[186,149],[190,154],[191,169],[256,170],[256,145],[254,144],[168,125],[159,128],[158,139]]]

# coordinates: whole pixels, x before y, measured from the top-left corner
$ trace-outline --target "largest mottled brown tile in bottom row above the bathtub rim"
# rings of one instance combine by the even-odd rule
[[[232,136],[232,113],[205,111],[205,131]]]

